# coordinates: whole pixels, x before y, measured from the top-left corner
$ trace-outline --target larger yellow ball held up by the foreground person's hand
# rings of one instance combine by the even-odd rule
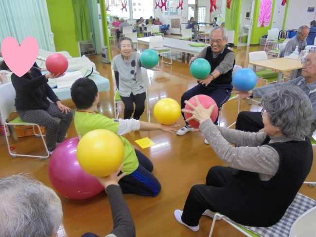
[[[96,129],[84,135],[77,146],[81,168],[93,176],[108,176],[115,172],[124,159],[122,139],[112,131]]]

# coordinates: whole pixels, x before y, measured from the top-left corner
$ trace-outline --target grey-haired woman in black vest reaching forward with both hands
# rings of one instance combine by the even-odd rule
[[[178,222],[199,230],[202,215],[219,212],[249,226],[267,227],[278,222],[294,200],[313,163],[310,131],[312,105],[296,86],[277,87],[263,95],[264,131],[249,133],[218,127],[210,115],[215,105],[204,109],[188,101],[200,130],[218,157],[228,167],[214,166],[206,184],[194,185]],[[230,145],[235,144],[235,146]]]

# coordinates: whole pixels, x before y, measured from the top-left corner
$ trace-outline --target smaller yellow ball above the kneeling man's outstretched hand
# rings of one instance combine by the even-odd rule
[[[181,116],[180,105],[171,98],[161,99],[154,107],[154,116],[160,124],[174,124]]]

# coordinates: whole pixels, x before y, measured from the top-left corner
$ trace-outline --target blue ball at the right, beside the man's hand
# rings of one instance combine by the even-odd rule
[[[232,77],[232,85],[238,91],[250,91],[257,84],[257,75],[248,68],[238,70]]]

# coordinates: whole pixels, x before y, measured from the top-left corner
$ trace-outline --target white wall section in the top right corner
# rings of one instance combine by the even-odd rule
[[[316,8],[316,0],[290,0],[288,1],[284,30],[298,29],[314,20],[315,12],[307,12],[308,7]]]

